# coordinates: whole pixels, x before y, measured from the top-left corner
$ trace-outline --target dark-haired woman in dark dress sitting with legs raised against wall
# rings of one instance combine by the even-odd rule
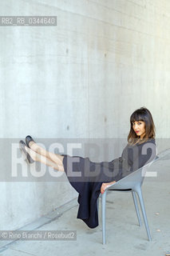
[[[89,158],[53,154],[38,146],[30,135],[26,136],[26,144],[20,141],[20,146],[30,163],[43,162],[56,170],[65,171],[70,184],[79,194],[77,218],[94,228],[98,226],[99,194],[156,157],[155,126],[150,111],[145,107],[134,111],[130,125],[127,146],[121,157],[111,162],[91,162]],[[75,159],[77,161],[73,162]]]

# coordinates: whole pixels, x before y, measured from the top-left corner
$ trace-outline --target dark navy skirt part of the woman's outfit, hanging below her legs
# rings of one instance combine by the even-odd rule
[[[89,158],[62,154],[63,166],[69,183],[78,192],[77,218],[90,228],[98,226],[97,198],[103,182],[121,179],[120,166],[113,168],[112,162],[91,162]]]

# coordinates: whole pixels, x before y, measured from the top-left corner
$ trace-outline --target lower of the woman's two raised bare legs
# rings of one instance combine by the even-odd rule
[[[29,143],[30,146],[30,143]],[[52,161],[51,158],[47,158],[45,155],[38,154],[36,151],[30,149],[29,147],[25,146],[26,152],[30,154],[30,157],[33,158],[34,161],[42,162],[46,166],[51,166],[56,170],[64,171],[64,166],[62,164],[62,158],[63,156],[59,155],[61,158],[55,158],[56,162]],[[43,149],[44,150],[44,149]],[[46,151],[46,150],[45,150]],[[42,153],[42,152],[41,152]],[[43,151],[44,153],[44,151]],[[50,152],[46,151],[46,154],[48,155]],[[50,153],[51,154],[51,153]]]

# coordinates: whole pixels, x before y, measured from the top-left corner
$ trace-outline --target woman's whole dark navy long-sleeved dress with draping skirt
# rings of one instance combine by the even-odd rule
[[[156,157],[156,143],[151,138],[142,144],[127,145],[121,157],[111,162],[91,162],[89,158],[62,155],[65,174],[79,194],[77,218],[81,218],[90,228],[95,228],[98,226],[97,198],[102,183],[117,182],[152,161]]]

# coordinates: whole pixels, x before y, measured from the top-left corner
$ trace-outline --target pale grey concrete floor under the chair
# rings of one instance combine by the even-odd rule
[[[38,219],[21,230],[76,230],[75,241],[1,241],[0,255],[165,255],[170,254],[170,161],[152,165],[156,178],[145,178],[142,186],[152,241],[148,242],[144,222],[138,226],[132,195],[109,191],[106,210],[106,244],[102,244],[101,199],[100,225],[89,229],[77,219],[77,198]],[[142,219],[143,221],[143,219]]]

